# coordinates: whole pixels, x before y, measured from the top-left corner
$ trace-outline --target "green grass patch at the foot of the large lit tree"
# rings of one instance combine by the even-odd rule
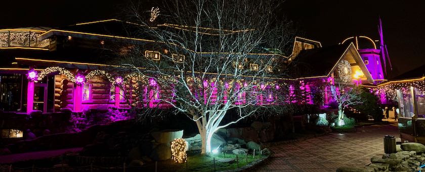
[[[257,153],[257,152],[256,152]],[[245,166],[248,163],[251,163],[253,160],[264,158],[265,156],[256,155],[256,158],[253,159],[252,154],[248,154],[248,162],[246,162],[245,155],[237,155],[239,159],[239,167]],[[186,163],[179,164],[179,169],[177,171],[214,171],[214,158],[216,159],[216,170],[231,170],[238,168],[236,162],[235,154],[226,154],[225,157],[223,153],[217,155],[193,155],[188,156],[187,167]],[[223,158],[234,158],[233,162],[220,162],[219,159]]]

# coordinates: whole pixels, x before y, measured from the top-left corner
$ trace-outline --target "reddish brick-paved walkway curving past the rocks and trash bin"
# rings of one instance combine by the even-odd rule
[[[363,166],[384,153],[385,135],[400,137],[394,125],[358,128],[356,133],[331,133],[292,144],[275,143],[275,152],[256,171],[336,171],[343,166]]]

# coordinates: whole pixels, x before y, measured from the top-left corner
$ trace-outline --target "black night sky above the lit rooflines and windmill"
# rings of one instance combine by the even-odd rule
[[[143,0],[142,0],[143,1]],[[259,0],[260,1],[260,0]],[[0,28],[62,26],[114,18],[125,13],[130,0],[6,1]],[[146,4],[147,9],[151,5]],[[378,16],[393,66],[400,72],[425,64],[425,1],[400,0],[287,0],[281,12],[305,37],[332,45],[353,35],[378,39]]]

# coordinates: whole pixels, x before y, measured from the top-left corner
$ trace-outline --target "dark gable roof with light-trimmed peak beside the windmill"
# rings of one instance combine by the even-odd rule
[[[372,76],[367,70],[353,43],[302,50],[289,64],[289,71],[296,78],[328,77],[341,60],[348,60],[351,66],[358,66],[370,83]]]

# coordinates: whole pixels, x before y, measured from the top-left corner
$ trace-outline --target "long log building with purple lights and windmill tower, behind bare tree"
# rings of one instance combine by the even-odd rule
[[[176,27],[163,24],[162,27]],[[16,28],[0,30],[0,110],[2,116],[27,116],[34,112],[55,114],[64,111],[74,113],[84,109],[118,108],[130,109],[137,96],[132,92],[133,82],[123,82],[128,76],[116,73],[119,64],[114,64],[116,52],[125,53],[129,43],[152,43],[143,37],[128,36],[126,28],[137,24],[116,19],[78,23],[63,28]],[[353,84],[376,89],[379,81],[385,80],[381,51],[372,47],[359,49],[352,37],[333,46],[322,47],[318,41],[295,37],[292,54],[252,54],[276,56],[286,61],[290,77],[278,78],[287,82],[291,103],[318,104],[326,108],[332,101],[329,88],[318,83],[328,83],[349,78]],[[370,39],[372,40],[372,39]],[[112,51],[113,49],[114,51]],[[162,49],[146,49],[147,58],[160,60]],[[184,61],[184,56],[176,56]],[[371,63],[371,61],[376,61]],[[373,65],[373,67],[372,67]],[[274,69],[270,69],[275,72]],[[338,71],[339,70],[339,71]],[[146,80],[146,85],[150,84]],[[124,87],[118,84],[124,83]],[[320,86],[319,86],[320,85]],[[155,89],[146,86],[145,92]],[[168,92],[167,92],[168,91]],[[318,95],[317,93],[320,93]],[[160,95],[144,100],[144,107],[168,108],[160,101]],[[159,94],[169,94],[161,90]],[[300,94],[300,95],[294,95]],[[321,96],[320,102],[314,101]],[[295,98],[296,97],[296,98]],[[156,100],[158,99],[158,100]],[[8,117],[9,117],[8,116]],[[11,126],[3,129],[10,130]]]

